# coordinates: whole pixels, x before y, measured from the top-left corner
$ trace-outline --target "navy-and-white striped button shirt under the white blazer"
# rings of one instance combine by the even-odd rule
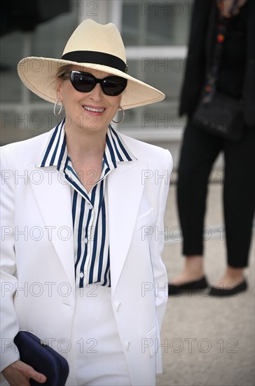
[[[116,131],[109,126],[102,159],[102,174],[99,180],[96,180],[91,171],[91,176],[88,177],[95,186],[87,192],[82,184],[84,176],[74,171],[67,152],[64,120],[56,126],[43,153],[38,166],[55,166],[57,171],[64,173],[71,189],[74,269],[76,286],[80,288],[92,283],[111,286],[106,177],[117,168],[118,162],[134,159],[136,158],[123,140],[120,140]]]

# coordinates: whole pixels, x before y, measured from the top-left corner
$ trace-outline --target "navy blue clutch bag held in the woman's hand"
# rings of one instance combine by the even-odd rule
[[[20,352],[20,360],[32,366],[39,373],[46,375],[47,380],[43,385],[65,385],[69,366],[62,355],[29,331],[20,331],[15,336],[14,342]],[[41,383],[31,379],[30,385],[41,385]]]

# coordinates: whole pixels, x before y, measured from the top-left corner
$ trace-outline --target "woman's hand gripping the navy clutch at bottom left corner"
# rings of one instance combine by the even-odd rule
[[[2,371],[2,374],[10,386],[30,386],[29,379],[31,378],[39,383],[44,383],[47,380],[45,375],[38,373],[22,361],[13,362]]]

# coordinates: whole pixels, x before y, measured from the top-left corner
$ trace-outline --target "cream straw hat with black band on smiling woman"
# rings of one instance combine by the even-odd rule
[[[123,109],[159,102],[165,95],[127,74],[125,47],[116,25],[100,25],[86,19],[75,29],[61,59],[29,57],[18,63],[22,82],[39,97],[55,103],[56,74],[60,67],[78,65],[122,76],[127,87],[122,93]]]

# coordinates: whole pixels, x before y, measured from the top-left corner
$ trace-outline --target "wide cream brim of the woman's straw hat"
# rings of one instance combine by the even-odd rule
[[[145,84],[138,79],[126,74],[123,71],[106,65],[97,63],[72,62],[69,60],[29,57],[20,60],[18,63],[18,75],[23,84],[33,93],[48,102],[55,103],[56,93],[56,74],[60,67],[74,65],[87,69],[99,70],[109,74],[122,76],[127,79],[127,86],[121,94],[120,106],[123,109],[149,105],[160,102],[165,98],[165,94],[156,88]]]

